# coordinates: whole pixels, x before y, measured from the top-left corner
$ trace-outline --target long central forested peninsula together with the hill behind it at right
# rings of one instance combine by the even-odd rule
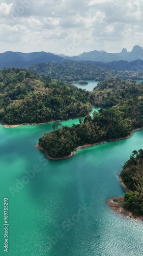
[[[103,99],[104,106],[112,108],[95,112],[93,118],[80,118],[79,124],[72,127],[63,126],[43,135],[38,146],[49,159],[58,160],[72,156],[81,147],[130,137],[143,126],[142,93],[142,83],[120,79],[102,82],[94,92],[87,92],[88,100],[102,107]]]

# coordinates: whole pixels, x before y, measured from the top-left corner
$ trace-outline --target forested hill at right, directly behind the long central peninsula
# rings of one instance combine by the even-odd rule
[[[94,91],[88,96],[93,106],[107,108],[115,106],[125,99],[130,99],[143,94],[143,83],[133,80],[112,78],[98,83]]]

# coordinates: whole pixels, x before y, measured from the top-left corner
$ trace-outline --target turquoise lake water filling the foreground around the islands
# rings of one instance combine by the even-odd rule
[[[11,128],[0,125],[0,255],[6,254],[5,197],[9,199],[10,256],[143,255],[143,223],[123,217],[107,205],[108,198],[125,194],[117,174],[131,152],[143,147],[143,130],[129,139],[84,148],[72,158],[50,161],[36,144],[51,130],[52,123]],[[26,171],[35,176],[24,178]],[[24,183],[18,186],[18,181]]]

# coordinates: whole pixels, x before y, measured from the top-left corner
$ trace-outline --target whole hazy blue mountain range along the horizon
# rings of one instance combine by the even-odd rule
[[[21,52],[5,52],[0,53],[0,68],[12,68],[12,67],[29,67],[38,63],[48,62],[63,62],[65,60],[83,60],[83,61],[100,61],[103,63],[112,61],[134,61],[143,59],[143,49],[140,46],[134,46],[131,52],[123,48],[120,53],[107,53],[105,51],[91,51],[84,52],[78,56],[64,56],[56,55],[47,52],[33,52],[33,53],[21,53]]]

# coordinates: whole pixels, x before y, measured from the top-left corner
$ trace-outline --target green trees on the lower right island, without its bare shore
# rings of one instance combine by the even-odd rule
[[[134,216],[143,215],[143,150],[133,151],[121,173],[130,191],[124,197],[124,207]]]

